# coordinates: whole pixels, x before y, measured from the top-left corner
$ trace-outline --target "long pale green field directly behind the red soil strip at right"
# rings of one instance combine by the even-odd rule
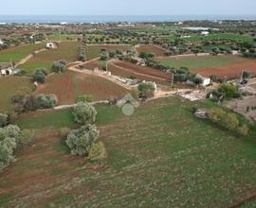
[[[202,57],[182,57],[182,58],[156,58],[155,61],[160,61],[170,67],[186,66],[193,68],[210,68],[227,66],[229,64],[246,61],[246,59],[235,56],[202,56]]]

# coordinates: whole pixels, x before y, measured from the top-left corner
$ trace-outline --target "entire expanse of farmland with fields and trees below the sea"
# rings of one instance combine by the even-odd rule
[[[253,207],[255,21],[0,25],[0,207]]]

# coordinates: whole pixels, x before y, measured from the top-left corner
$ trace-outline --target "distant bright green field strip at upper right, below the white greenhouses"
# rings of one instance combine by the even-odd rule
[[[236,35],[236,34],[228,34],[228,33],[212,34],[209,36],[192,36],[190,38],[183,38],[183,40],[190,41],[190,42],[226,40],[226,41],[241,41],[241,42],[253,43],[253,38],[247,35]]]

